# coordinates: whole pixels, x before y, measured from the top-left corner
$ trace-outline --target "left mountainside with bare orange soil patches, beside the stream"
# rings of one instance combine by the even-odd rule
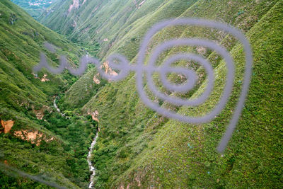
[[[45,41],[59,47],[57,52],[48,52]],[[33,73],[40,52],[56,66],[59,55],[75,65],[83,50],[11,1],[0,1],[0,188],[47,188],[30,178],[83,188],[96,123],[79,114],[66,119],[52,108],[54,96],[78,78],[67,71]]]

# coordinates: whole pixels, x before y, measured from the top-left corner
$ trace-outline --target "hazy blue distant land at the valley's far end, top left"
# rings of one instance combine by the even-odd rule
[[[48,8],[55,0],[11,0],[14,4],[21,6],[33,18],[38,18],[45,8]]]

